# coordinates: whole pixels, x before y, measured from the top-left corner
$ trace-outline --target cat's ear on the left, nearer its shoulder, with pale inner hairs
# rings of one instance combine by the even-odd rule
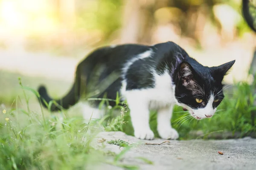
[[[181,62],[178,77],[179,79],[192,78],[194,74],[194,69],[188,62]]]

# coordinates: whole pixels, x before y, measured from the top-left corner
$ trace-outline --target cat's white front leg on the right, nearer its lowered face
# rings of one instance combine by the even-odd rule
[[[174,105],[161,108],[157,113],[157,131],[162,139],[177,139],[179,134],[171,126],[172,111]]]

